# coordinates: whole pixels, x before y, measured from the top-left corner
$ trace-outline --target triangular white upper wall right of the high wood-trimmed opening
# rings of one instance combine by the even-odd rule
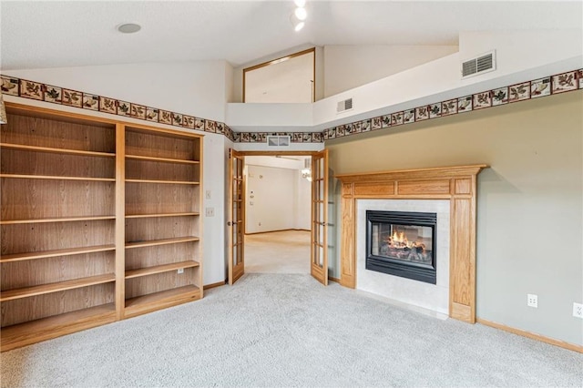
[[[457,46],[324,46],[324,97],[457,52]]]

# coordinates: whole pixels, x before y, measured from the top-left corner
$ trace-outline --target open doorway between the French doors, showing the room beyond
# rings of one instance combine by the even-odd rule
[[[310,273],[311,157],[248,156],[245,271]]]

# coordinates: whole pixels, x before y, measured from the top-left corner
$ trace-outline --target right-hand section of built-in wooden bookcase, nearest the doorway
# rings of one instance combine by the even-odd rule
[[[187,133],[127,127],[125,135],[125,313],[131,315],[202,295],[202,148],[201,138]]]

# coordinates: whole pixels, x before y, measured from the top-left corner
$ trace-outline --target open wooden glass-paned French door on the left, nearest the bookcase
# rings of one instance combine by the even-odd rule
[[[227,225],[229,227],[229,284],[233,284],[245,273],[243,256],[243,220],[244,220],[244,183],[243,167],[245,158],[237,151],[229,150],[229,186],[230,209]]]

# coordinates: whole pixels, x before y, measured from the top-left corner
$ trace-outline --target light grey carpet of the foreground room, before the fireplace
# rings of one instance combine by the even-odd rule
[[[581,386],[583,354],[304,274],[2,353],[18,386]]]

